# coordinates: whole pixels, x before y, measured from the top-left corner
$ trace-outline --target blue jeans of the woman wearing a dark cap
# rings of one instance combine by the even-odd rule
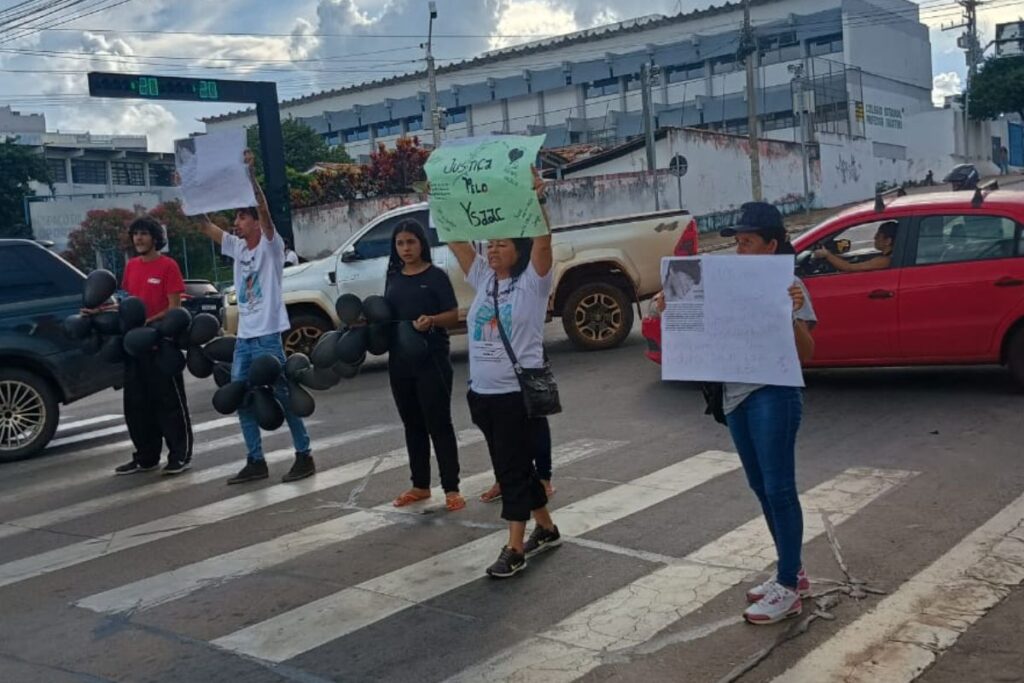
[[[797,431],[804,399],[797,387],[758,389],[726,416],[746,481],[761,502],[778,554],[776,581],[796,589],[804,542],[797,492]]]

